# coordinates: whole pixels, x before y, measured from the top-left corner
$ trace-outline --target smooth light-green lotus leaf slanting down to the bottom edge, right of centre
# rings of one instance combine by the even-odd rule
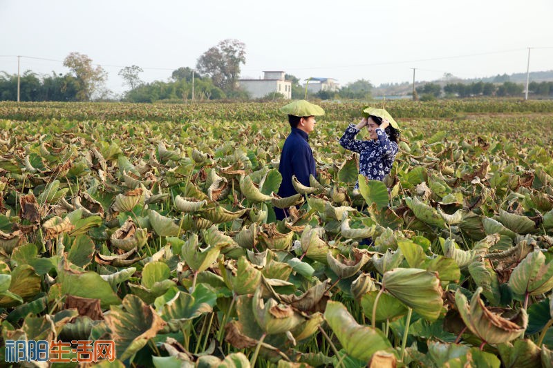
[[[324,318],[341,346],[353,358],[368,362],[376,351],[391,347],[382,331],[359,325],[340,302],[329,301],[326,304]]]

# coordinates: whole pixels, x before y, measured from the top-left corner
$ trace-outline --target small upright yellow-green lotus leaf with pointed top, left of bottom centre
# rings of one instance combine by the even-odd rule
[[[231,262],[219,263],[223,280],[229,289],[238,295],[253,294],[261,284],[261,271],[247,262],[245,256],[238,258],[236,267]]]

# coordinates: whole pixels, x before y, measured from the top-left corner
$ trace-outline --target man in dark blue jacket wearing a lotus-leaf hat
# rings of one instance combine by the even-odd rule
[[[296,194],[292,186],[292,175],[305,186],[309,186],[309,175],[317,177],[315,172],[315,159],[308,143],[308,135],[315,129],[315,116],[324,115],[324,110],[317,105],[310,104],[302,99],[294,101],[281,108],[281,112],[288,114],[288,122],[292,131],[286,138],[281,153],[279,172],[282,175],[282,183],[279,188],[281,197],[290,197]],[[288,217],[286,209],[274,209],[277,220]]]

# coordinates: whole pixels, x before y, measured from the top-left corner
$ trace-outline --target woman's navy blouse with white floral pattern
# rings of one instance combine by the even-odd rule
[[[359,129],[350,124],[340,138],[340,145],[359,153],[359,174],[368,179],[383,180],[384,176],[391,171],[398,150],[397,143],[388,139],[382,128],[376,128],[378,136],[376,141],[355,139],[357,133]],[[355,188],[359,188],[359,183],[355,184]]]

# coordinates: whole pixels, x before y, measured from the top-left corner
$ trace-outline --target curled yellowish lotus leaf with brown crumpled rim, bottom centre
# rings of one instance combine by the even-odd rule
[[[261,288],[254,293],[252,304],[256,322],[268,335],[285,333],[303,322],[303,318],[290,305],[279,304],[273,298],[263,302]]]

